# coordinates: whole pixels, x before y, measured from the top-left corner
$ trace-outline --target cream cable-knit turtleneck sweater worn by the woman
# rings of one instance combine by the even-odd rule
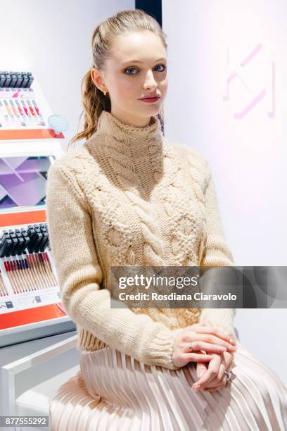
[[[235,337],[235,309],[110,308],[110,266],[233,266],[207,161],[167,142],[158,118],[132,127],[103,111],[94,135],[51,166],[46,211],[79,350],[111,346],[176,369],[180,328],[208,318]]]

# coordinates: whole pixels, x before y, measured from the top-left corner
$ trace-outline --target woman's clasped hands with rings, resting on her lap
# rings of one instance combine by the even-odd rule
[[[198,382],[192,389],[215,392],[225,387],[227,375],[234,363],[236,340],[230,339],[210,321],[197,323],[181,330],[174,342],[172,361],[176,367],[196,362]]]

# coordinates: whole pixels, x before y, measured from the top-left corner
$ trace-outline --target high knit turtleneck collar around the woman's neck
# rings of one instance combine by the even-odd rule
[[[115,116],[102,111],[98,118],[96,135],[109,135],[110,142],[120,150],[122,146],[128,146],[132,157],[151,156],[162,149],[163,135],[160,120],[154,115],[151,116],[150,123],[144,127],[136,127],[122,123]]]

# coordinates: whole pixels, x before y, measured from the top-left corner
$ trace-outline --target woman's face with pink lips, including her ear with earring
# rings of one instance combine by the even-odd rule
[[[94,84],[109,93],[111,113],[123,123],[144,127],[159,113],[167,92],[167,51],[153,32],[118,36],[103,70],[91,69]],[[141,101],[158,94],[153,103]],[[108,96],[108,95],[107,95]],[[107,97],[106,96],[106,97]]]

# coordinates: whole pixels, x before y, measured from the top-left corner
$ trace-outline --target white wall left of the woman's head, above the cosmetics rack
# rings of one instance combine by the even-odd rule
[[[68,119],[63,148],[77,133],[94,28],[124,9],[134,0],[0,0],[0,69],[34,74],[53,113]]]

